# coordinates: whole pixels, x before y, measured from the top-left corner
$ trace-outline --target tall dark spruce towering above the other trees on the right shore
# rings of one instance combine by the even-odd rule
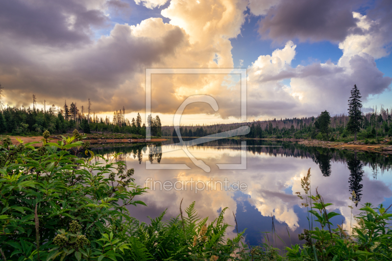
[[[360,98],[360,92],[357,85],[354,84],[354,88],[351,90],[351,96],[348,100],[348,115],[350,119],[347,123],[347,129],[354,133],[354,141],[357,141],[357,132],[360,130],[362,121],[362,103]]]

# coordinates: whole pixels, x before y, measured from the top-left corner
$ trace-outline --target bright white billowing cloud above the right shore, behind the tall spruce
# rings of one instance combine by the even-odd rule
[[[354,84],[363,100],[387,90],[392,78],[384,76],[375,63],[375,58],[389,54],[387,28],[359,13],[351,16],[362,33],[352,32],[339,44],[343,55],[336,64],[327,61],[291,67],[296,47],[291,41],[272,55],[259,56],[248,70],[253,94],[248,98],[248,112],[256,118],[318,115],[323,110],[340,114],[346,111]],[[284,79],[290,84],[283,84]]]

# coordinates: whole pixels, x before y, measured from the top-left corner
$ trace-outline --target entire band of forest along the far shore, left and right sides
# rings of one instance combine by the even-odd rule
[[[0,88],[2,87],[0,86]],[[353,90],[357,92],[355,94],[355,104],[359,106],[352,112],[356,113],[355,117],[350,116],[350,113],[330,116],[327,111],[323,111],[316,117],[253,120],[251,122],[229,124],[184,125],[180,126],[179,129],[182,137],[204,137],[235,130],[246,125],[250,127],[250,132],[245,135],[246,138],[317,139],[332,142],[347,142],[358,137],[359,140],[365,142],[377,143],[382,138],[392,136],[392,111],[383,107],[380,109],[375,107],[371,112],[361,112],[362,103],[359,100],[361,97],[359,96],[359,90],[356,86]],[[87,108],[84,108],[84,106],[78,108],[76,103],[72,102],[68,106],[65,101],[62,108],[56,108],[52,105],[48,106],[47,109],[44,105],[44,108],[39,110],[36,108],[36,98],[33,95],[33,108],[6,106],[0,110],[0,133],[23,136],[42,135],[45,130],[48,130],[51,134],[61,134],[77,129],[87,134],[91,132],[112,132],[138,134],[145,137],[146,128],[150,128],[151,136],[177,137],[174,126],[162,126],[158,115],[155,117],[149,115],[146,126],[145,123],[142,123],[139,113],[136,119],[126,119],[125,108],[123,107],[116,110],[111,119],[108,116],[103,119],[98,118],[95,112],[91,110],[91,104],[92,102],[89,99]],[[353,120],[350,119],[356,119],[354,125],[352,124]]]

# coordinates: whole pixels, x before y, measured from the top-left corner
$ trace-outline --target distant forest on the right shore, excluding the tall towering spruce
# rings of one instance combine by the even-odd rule
[[[180,132],[182,137],[203,137],[234,130],[241,126],[249,126],[250,132],[246,135],[247,138],[327,139],[327,130],[323,132],[324,129],[320,129],[319,119],[320,116],[316,118],[267,119],[231,124],[184,125],[180,127]],[[329,119],[329,140],[338,140],[339,138],[346,138],[352,135],[347,129],[348,115],[335,115]],[[391,113],[388,109],[384,110],[381,108],[380,111],[375,110],[374,112],[365,113],[363,119],[361,131],[358,133],[359,139],[381,139],[392,136],[392,128],[390,127]],[[176,137],[173,126],[163,126],[162,133],[163,136]]]

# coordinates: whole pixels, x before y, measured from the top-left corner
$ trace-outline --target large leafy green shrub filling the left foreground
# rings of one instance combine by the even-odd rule
[[[33,142],[0,146],[0,246],[6,260],[116,260],[128,247],[118,237],[129,220],[126,206],[145,190],[133,169],[92,151],[72,138],[34,148]],[[70,150],[74,155],[70,154]],[[118,154],[113,155],[117,158]],[[98,157],[102,162],[92,161]],[[116,235],[116,236],[115,236]]]

